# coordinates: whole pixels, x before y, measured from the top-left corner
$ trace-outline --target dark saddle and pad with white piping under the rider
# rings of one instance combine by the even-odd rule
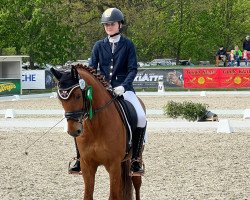
[[[134,106],[123,97],[117,97],[115,105],[126,127],[126,158],[132,148],[132,134],[137,128],[138,118]]]

